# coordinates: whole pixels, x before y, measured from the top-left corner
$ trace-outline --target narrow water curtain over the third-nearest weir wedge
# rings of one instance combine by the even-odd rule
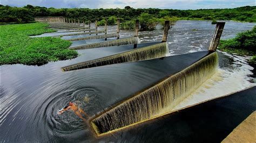
[[[128,37],[120,38],[117,40],[109,40],[104,42],[96,42],[93,44],[80,45],[75,47],[70,47],[70,49],[90,49],[90,48],[99,48],[99,47],[109,47],[109,46],[120,46],[120,45],[129,45],[129,44],[139,44],[138,37]]]

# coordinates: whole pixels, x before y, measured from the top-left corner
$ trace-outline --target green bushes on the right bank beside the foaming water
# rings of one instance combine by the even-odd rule
[[[233,39],[220,40],[219,49],[229,53],[253,56],[251,63],[256,63],[256,26],[251,31],[238,33]]]

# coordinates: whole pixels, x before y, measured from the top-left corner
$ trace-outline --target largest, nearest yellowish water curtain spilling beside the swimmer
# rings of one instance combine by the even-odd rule
[[[205,52],[197,52],[191,56],[190,54],[184,55],[166,57],[163,61],[174,57],[176,60],[190,64],[180,63],[180,67],[187,66],[174,68],[175,72],[166,78],[92,119],[91,125],[96,134],[103,135],[117,131],[170,112],[217,70],[218,55],[216,52],[208,55]],[[198,55],[197,58],[194,55]],[[174,61],[172,63],[175,65]]]

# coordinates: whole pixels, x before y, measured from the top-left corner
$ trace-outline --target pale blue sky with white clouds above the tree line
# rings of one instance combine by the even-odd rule
[[[0,0],[2,5],[22,7],[30,4],[46,8],[132,8],[159,9],[226,9],[240,6],[255,6],[255,0]]]

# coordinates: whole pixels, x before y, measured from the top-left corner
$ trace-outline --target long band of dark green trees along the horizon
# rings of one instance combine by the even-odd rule
[[[130,6],[125,6],[124,9],[55,9],[32,5],[26,5],[23,8],[0,5],[0,23],[26,23],[33,21],[34,17],[42,16],[64,16],[68,18],[79,18],[80,20],[90,19],[91,22],[94,22],[96,19],[100,21],[105,17],[111,16],[116,16],[122,20],[132,20],[137,19],[142,13],[148,13],[150,17],[157,19],[177,17],[185,20],[235,20],[256,22],[256,6],[243,6],[234,9],[173,10],[152,8],[133,9]],[[154,23],[154,20],[152,20],[152,23]]]

